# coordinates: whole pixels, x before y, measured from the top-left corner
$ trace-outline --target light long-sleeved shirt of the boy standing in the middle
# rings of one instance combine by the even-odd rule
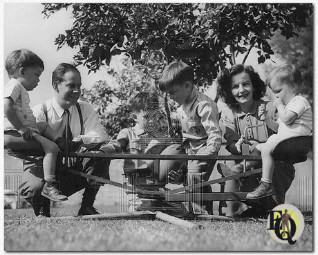
[[[178,107],[177,113],[183,138],[189,140],[191,151],[196,153],[206,144],[206,153],[217,154],[221,147],[221,129],[216,103],[194,88],[187,103]]]

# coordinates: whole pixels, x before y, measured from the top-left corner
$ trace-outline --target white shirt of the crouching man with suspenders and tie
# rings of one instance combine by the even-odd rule
[[[83,101],[78,101],[83,116],[84,135],[81,135],[81,125],[79,121],[79,113],[76,106],[68,108],[70,112],[70,128],[73,138],[80,137],[84,144],[98,143],[106,141],[107,135],[104,127],[100,124],[98,116],[93,107]],[[57,104],[55,98],[46,101],[46,109],[48,113],[48,124],[56,132],[62,136],[64,129],[66,114],[64,108]],[[46,116],[42,104],[32,108],[37,122],[46,122]],[[65,117],[64,117],[65,116]]]

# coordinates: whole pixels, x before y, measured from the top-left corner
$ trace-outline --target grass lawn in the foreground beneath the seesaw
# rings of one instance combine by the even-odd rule
[[[100,209],[100,208],[99,208]],[[74,216],[77,206],[53,208]],[[104,208],[101,211],[112,211]],[[312,251],[312,224],[294,245],[270,238],[266,223],[197,221],[189,230],[160,220],[54,220],[32,218],[32,209],[4,211],[6,251]],[[20,219],[20,220],[18,220]]]

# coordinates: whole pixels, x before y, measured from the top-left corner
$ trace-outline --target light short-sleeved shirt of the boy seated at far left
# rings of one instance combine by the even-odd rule
[[[30,109],[30,97],[26,88],[17,81],[17,79],[10,79],[8,84],[4,86],[4,95],[3,98],[10,97],[13,101],[13,109],[17,114],[19,121],[24,125],[30,128],[32,131],[39,133],[37,129],[35,116]],[[8,118],[4,116],[4,131],[7,130],[16,130],[15,127],[9,122]]]

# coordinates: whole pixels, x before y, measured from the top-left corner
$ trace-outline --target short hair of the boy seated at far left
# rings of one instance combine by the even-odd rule
[[[15,50],[10,53],[6,59],[6,70],[8,75],[13,75],[19,68],[31,67],[31,66],[39,66],[44,69],[44,63],[42,59],[39,58],[38,55],[33,53],[31,50],[20,49]]]

